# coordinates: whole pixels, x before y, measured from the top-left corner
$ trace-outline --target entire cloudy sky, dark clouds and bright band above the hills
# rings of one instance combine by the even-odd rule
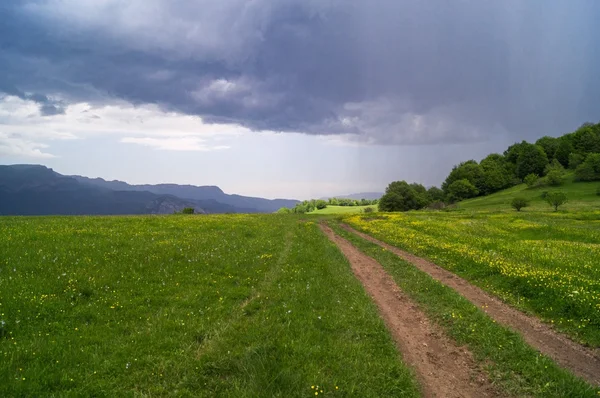
[[[308,199],[600,120],[596,0],[1,0],[0,164]]]

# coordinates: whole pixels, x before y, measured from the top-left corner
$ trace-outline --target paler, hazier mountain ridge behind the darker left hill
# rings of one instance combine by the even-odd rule
[[[72,177],[82,183],[112,190],[147,191],[158,195],[173,195],[184,199],[218,202],[236,209],[237,213],[273,213],[282,207],[294,207],[296,203],[299,203],[299,201],[292,199],[264,199],[251,196],[228,195],[216,186],[177,184],[131,185],[123,181],[106,181],[102,178]],[[207,210],[209,207],[212,208],[212,206],[208,205],[208,202],[203,203]]]

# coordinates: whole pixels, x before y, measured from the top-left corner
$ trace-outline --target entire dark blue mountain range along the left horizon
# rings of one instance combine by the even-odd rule
[[[40,165],[0,166],[0,215],[171,214],[185,207],[196,213],[258,213],[278,206],[278,200],[227,195],[218,187],[136,186],[65,176]]]

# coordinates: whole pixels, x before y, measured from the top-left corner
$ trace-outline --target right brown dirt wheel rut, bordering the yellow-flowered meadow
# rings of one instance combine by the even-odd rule
[[[456,290],[467,300],[483,309],[496,322],[519,332],[529,345],[552,358],[560,366],[570,370],[589,383],[600,385],[600,349],[588,348],[577,344],[568,337],[557,333],[536,317],[526,315],[510,307],[480,288],[471,285],[466,280],[430,261],[377,240],[346,224],[341,224],[341,226],[345,230],[373,242],[414,264],[421,271],[428,273],[434,279]]]

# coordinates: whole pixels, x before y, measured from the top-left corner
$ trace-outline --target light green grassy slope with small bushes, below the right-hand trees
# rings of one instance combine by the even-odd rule
[[[550,205],[542,198],[542,192],[561,190],[567,194],[569,203],[560,209],[593,210],[600,209],[600,196],[596,195],[599,187],[600,182],[574,182],[573,176],[569,176],[560,187],[527,188],[525,184],[521,184],[488,196],[462,201],[458,203],[458,207],[467,210],[510,210],[511,200],[518,196],[531,200],[531,206],[524,211],[548,211]]]

